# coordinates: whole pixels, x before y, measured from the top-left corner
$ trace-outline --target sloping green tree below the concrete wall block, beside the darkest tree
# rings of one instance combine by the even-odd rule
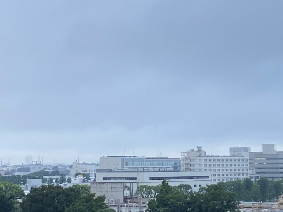
[[[88,193],[76,199],[65,212],[115,212],[114,209],[108,209],[104,200],[105,196],[95,198],[94,193]]]

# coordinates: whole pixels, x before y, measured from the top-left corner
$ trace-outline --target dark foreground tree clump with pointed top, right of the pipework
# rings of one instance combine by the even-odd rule
[[[147,212],[236,212],[238,209],[236,193],[225,190],[220,184],[192,192],[189,185],[169,186],[168,181],[163,180],[158,189],[155,198],[147,204]]]

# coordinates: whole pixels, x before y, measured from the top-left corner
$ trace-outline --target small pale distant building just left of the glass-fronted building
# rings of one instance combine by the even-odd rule
[[[95,177],[97,169],[100,169],[99,163],[80,163],[75,161],[73,162],[73,168],[70,169],[70,175],[75,177],[75,174],[80,172],[89,174],[90,177]]]

